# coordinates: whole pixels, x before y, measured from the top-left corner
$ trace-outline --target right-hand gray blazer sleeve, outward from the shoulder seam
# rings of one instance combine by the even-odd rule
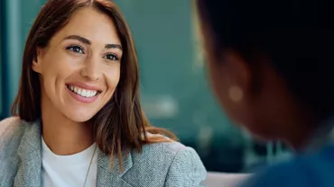
[[[207,171],[199,155],[191,147],[182,148],[169,168],[165,187],[198,187],[207,177]]]

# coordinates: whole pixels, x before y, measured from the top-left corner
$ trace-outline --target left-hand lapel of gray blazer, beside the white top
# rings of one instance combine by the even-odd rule
[[[14,186],[40,187],[42,182],[41,123],[38,121],[25,125],[27,127],[18,147],[21,162],[14,178]]]

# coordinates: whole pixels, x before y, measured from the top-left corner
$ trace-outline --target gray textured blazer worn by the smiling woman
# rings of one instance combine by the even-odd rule
[[[0,121],[0,187],[42,186],[40,122],[18,118]],[[123,162],[110,169],[109,157],[98,151],[97,187],[202,186],[206,169],[197,153],[178,142],[156,143],[132,151]]]

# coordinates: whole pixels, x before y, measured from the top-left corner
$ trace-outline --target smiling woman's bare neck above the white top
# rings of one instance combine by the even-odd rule
[[[88,123],[70,120],[47,103],[42,102],[42,137],[54,154],[73,155],[94,143],[92,129]]]

